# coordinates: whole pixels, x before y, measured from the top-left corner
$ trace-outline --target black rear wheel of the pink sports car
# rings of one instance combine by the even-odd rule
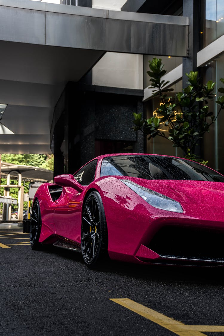
[[[40,250],[42,244],[39,243],[41,232],[41,214],[38,200],[34,202],[30,223],[30,246],[33,250]]]

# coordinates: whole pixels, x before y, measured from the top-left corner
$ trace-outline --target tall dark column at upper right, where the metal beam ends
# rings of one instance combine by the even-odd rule
[[[200,49],[200,1],[183,0],[183,16],[189,17],[188,57],[183,57],[183,87],[186,73],[197,70],[197,52]]]

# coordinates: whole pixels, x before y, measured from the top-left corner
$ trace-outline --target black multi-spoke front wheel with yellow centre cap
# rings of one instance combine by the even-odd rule
[[[108,234],[103,202],[98,192],[92,192],[84,205],[81,246],[85,263],[95,268],[108,257]]]

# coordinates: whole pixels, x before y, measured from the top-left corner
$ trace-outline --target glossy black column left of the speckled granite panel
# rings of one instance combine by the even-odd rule
[[[66,86],[65,170],[73,174],[95,153],[95,102],[92,92],[82,91],[76,83]]]

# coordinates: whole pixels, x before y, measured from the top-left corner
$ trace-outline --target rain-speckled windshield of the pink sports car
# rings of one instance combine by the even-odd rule
[[[103,159],[100,176],[121,175],[147,180],[224,182],[224,176],[199,163],[160,155],[121,155]]]

